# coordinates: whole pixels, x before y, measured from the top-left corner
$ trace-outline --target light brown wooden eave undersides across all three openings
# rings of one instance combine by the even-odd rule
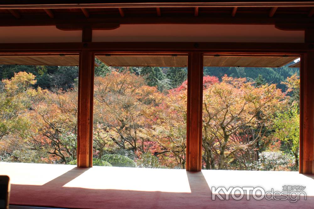
[[[97,55],[108,66],[187,66],[187,55]],[[296,60],[297,56],[265,55],[204,55],[204,66],[281,67]],[[78,65],[75,54],[61,55],[0,55],[2,65]],[[95,63],[97,65],[97,63]]]

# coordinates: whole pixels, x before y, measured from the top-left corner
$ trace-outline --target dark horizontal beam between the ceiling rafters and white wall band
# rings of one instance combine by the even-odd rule
[[[28,18],[21,19],[10,19],[0,18],[0,26],[48,26],[56,24],[276,24],[283,23],[289,26],[297,28],[298,24],[303,26],[309,25],[312,27],[314,21],[311,18],[259,18],[253,16],[247,17],[198,17],[194,16],[162,16],[156,17],[145,17],[143,15],[132,16],[128,18],[117,17],[117,18],[103,18],[94,15],[90,18],[73,16],[69,14],[58,14],[58,17],[47,18],[46,15],[30,15]]]

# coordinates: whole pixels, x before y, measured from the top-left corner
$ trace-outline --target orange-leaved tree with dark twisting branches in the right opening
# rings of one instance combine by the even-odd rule
[[[224,76],[222,82],[203,91],[203,159],[208,169],[228,168],[228,157],[248,149],[263,137],[262,128],[250,134],[249,143],[232,144],[232,138],[243,127],[263,127],[268,118],[284,105],[284,94],[275,85],[255,87],[246,78]],[[261,119],[257,118],[260,115]],[[252,129],[251,129],[252,130]],[[242,133],[239,133],[242,134]],[[253,138],[254,136],[254,138]]]

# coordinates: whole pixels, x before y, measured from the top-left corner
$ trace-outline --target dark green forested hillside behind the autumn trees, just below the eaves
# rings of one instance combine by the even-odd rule
[[[98,63],[101,63],[98,60]],[[294,62],[293,62],[294,63]],[[292,64],[292,63],[290,63]],[[116,67],[116,69],[123,69],[122,67]],[[130,67],[130,71],[133,71],[137,75],[145,76],[149,78],[148,85],[157,85],[157,81],[162,82],[160,84],[161,89],[174,88],[187,78],[187,69],[180,67],[164,67],[164,68],[151,68],[151,67]],[[154,69],[154,72],[151,71]],[[0,65],[0,81],[3,79],[10,79],[14,76],[14,73],[19,71],[25,71],[32,73],[36,76],[36,86],[40,86],[43,89],[50,89],[53,87],[61,87],[67,89],[73,87],[78,77],[78,70],[76,66],[35,66],[35,65]],[[109,67],[103,63],[95,68],[95,76],[104,76],[110,72]],[[216,76],[221,81],[224,75],[255,80],[261,75],[265,82],[276,84],[278,88],[285,90],[285,86],[281,84],[281,81],[285,81],[287,77],[293,74],[299,75],[299,68],[290,68],[285,65],[280,68],[270,67],[204,67],[204,76]],[[166,80],[165,80],[166,79]]]

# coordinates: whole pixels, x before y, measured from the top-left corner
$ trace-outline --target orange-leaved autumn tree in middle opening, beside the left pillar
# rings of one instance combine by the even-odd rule
[[[107,130],[118,149],[144,153],[146,138],[140,130],[151,127],[153,121],[147,116],[161,98],[156,87],[147,86],[142,76],[129,71],[96,77],[94,126]],[[105,140],[107,135],[102,137]]]

